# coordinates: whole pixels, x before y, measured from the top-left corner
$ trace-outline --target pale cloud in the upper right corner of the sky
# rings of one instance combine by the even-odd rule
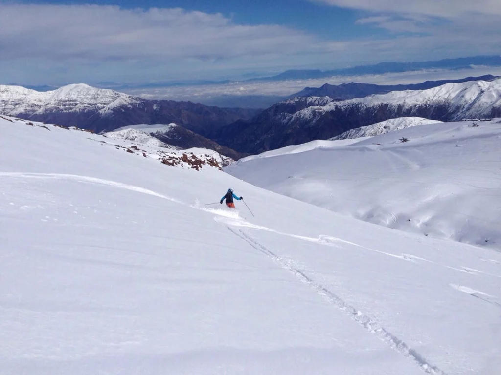
[[[389,58],[439,59],[501,52],[500,0],[310,0],[366,12],[355,23],[393,38],[357,40]],[[409,34],[411,36],[409,36]],[[448,54],[444,56],[444,54]]]

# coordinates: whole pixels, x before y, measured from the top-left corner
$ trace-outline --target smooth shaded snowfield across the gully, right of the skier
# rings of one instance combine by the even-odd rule
[[[341,147],[333,140],[226,170],[344,215],[501,249],[501,123],[478,124],[423,124]]]

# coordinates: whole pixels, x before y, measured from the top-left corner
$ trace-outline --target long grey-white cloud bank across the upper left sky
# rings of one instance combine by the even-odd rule
[[[327,53],[326,43],[279,25],[239,25],[222,14],[179,8],[0,4],[2,57],[167,58],[214,61],[242,56]]]

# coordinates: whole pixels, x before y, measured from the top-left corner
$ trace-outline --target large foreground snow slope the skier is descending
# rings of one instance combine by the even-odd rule
[[[2,374],[499,368],[498,252],[42,126],[0,118]]]

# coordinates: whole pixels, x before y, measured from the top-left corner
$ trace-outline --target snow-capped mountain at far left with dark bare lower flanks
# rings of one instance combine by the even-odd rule
[[[83,83],[44,92],[0,85],[0,114],[97,132],[137,123],[175,122],[207,136],[220,126],[255,113],[252,109],[218,108],[190,101],[148,100]]]

